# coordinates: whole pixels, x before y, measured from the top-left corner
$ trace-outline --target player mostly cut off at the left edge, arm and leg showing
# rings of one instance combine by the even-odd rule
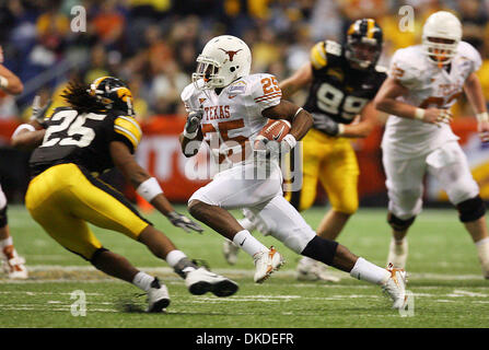
[[[0,89],[13,95],[21,94],[24,90],[19,77],[7,69],[3,65],[3,51],[0,46]],[[2,260],[2,269],[11,279],[26,279],[27,269],[25,259],[19,256],[13,246],[12,236],[10,235],[9,224],[7,220],[7,197],[0,185],[0,259]]]

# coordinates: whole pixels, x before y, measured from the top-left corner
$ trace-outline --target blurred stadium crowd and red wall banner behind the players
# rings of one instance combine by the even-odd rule
[[[415,9],[415,31],[400,32],[401,5]],[[71,9],[86,10],[86,32],[70,28]],[[232,34],[243,38],[253,52],[252,72],[270,72],[284,79],[308,59],[310,48],[322,39],[344,42],[349,24],[374,18],[384,31],[380,65],[388,66],[393,52],[420,42],[422,23],[438,10],[454,11],[464,27],[464,40],[481,54],[478,74],[489,101],[489,1],[488,0],[2,0],[0,45],[4,65],[24,83],[24,93],[9,96],[0,91],[0,178],[11,202],[22,202],[28,180],[28,153],[12,150],[9,138],[28,119],[35,94],[42,101],[59,97],[66,82],[79,77],[85,82],[116,75],[129,83],[136,112],[144,131],[138,161],[148,166],[173,201],[185,201],[205,184],[185,177],[186,160],[177,135],[185,115],[179,93],[190,82],[195,59],[208,39]],[[294,96],[301,104],[305,92]],[[475,133],[476,122],[465,100],[453,108],[453,129],[461,137],[481,196],[489,200],[489,149]],[[381,162],[383,120],[372,135],[354,141],[361,176],[361,206],[387,203]],[[191,162],[193,160],[190,160]],[[106,178],[131,199],[133,191],[117,173]],[[446,206],[446,197],[431,178],[426,201]],[[325,203],[322,189],[316,203]]]

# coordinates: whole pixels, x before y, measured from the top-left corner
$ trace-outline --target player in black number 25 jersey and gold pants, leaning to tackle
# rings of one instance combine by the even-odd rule
[[[34,220],[60,245],[95,268],[144,290],[149,312],[160,312],[168,305],[166,287],[139,271],[125,257],[104,248],[89,222],[147,245],[185,279],[193,294],[235,293],[235,282],[197,267],[120,192],[97,178],[97,174],[116,166],[138,194],[174,225],[202,231],[175,212],[156,179],[133,159],[141,129],[133,117],[132,96],[126,84],[112,77],[102,77],[90,85],[71,82],[63,97],[67,107],[37,120],[43,129],[23,125],[12,140],[16,147],[37,147],[30,160],[33,178],[25,196]]]

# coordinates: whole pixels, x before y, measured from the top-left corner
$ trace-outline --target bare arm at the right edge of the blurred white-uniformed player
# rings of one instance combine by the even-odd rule
[[[471,73],[465,80],[464,92],[477,116],[477,131],[482,142],[489,142],[489,115],[479,78]]]

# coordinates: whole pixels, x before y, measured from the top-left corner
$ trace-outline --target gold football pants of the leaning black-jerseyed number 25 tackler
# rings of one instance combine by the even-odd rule
[[[51,166],[33,178],[25,205],[55,241],[86,260],[102,248],[88,222],[133,240],[149,224],[120,192],[72,163]]]

